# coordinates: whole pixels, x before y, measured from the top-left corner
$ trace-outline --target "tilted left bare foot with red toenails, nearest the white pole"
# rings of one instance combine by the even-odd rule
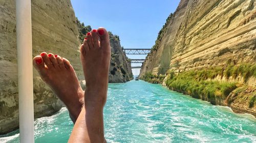
[[[70,62],[58,55],[43,52],[34,57],[33,65],[41,79],[66,105],[71,120],[75,123],[83,106],[84,91]]]

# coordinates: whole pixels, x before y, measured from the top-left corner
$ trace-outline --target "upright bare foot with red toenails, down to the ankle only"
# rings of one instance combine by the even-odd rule
[[[87,104],[97,102],[103,108],[109,83],[111,55],[109,33],[103,28],[92,30],[87,34],[80,51],[87,83],[86,93],[93,93],[92,96],[86,96],[85,101]]]

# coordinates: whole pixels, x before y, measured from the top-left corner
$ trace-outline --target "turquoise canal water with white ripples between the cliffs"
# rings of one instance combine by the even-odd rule
[[[108,142],[256,142],[256,120],[144,81],[109,84]],[[67,142],[73,123],[62,108],[35,121],[35,142]],[[18,131],[0,138],[18,142]]]

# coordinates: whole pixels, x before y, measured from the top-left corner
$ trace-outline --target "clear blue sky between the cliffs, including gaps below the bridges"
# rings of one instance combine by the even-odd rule
[[[76,17],[93,29],[104,27],[120,37],[125,48],[151,49],[168,15],[179,0],[71,0]],[[146,55],[127,55],[144,59]],[[141,64],[132,64],[139,66]],[[134,75],[139,69],[133,69]]]

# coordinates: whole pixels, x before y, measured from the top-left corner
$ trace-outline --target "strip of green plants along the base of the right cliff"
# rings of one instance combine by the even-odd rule
[[[240,65],[228,65],[224,70],[219,67],[203,68],[199,70],[188,70],[182,73],[174,74],[170,71],[170,74],[166,80],[168,88],[189,94],[190,96],[198,99],[203,99],[216,104],[218,100],[227,100],[228,104],[232,103],[232,100],[236,98],[227,98],[233,91],[235,96],[242,94],[247,89],[246,85],[240,84],[234,81],[218,81],[213,80],[219,76],[219,78],[237,78],[243,77],[246,82],[249,77],[255,75],[255,64],[240,64]],[[245,88],[245,89],[244,89]],[[245,95],[245,93],[243,93]],[[247,94],[246,98],[240,96],[241,102],[248,102],[249,108],[253,107],[256,103],[256,93],[253,91]]]

